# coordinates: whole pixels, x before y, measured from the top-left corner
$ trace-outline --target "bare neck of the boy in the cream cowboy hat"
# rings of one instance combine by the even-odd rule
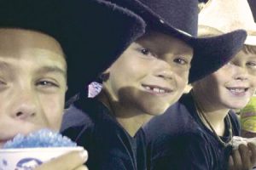
[[[228,115],[230,109],[215,105],[214,102],[206,98],[206,95],[201,95],[200,93],[195,92],[193,98],[197,107],[199,107],[199,111],[197,111],[199,116],[203,114],[218,136],[223,136],[225,132],[224,118]],[[211,130],[207,121],[202,116],[201,121]]]

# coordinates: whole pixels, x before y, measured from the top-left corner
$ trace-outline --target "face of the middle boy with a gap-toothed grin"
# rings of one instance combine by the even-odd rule
[[[126,109],[160,114],[183,94],[192,55],[184,42],[150,31],[113,63],[103,86]]]

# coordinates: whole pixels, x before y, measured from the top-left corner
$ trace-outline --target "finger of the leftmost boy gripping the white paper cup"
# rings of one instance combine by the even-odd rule
[[[73,170],[76,167],[83,165],[87,159],[88,153],[86,150],[72,151],[44,163],[42,166],[36,168],[36,170]]]

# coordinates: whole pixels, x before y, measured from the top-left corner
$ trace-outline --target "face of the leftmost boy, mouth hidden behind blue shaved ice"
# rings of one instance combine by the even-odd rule
[[[17,133],[59,130],[67,66],[55,39],[0,29],[0,148]]]

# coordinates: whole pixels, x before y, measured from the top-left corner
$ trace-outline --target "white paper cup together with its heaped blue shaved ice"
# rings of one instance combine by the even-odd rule
[[[0,170],[32,170],[70,151],[82,151],[71,139],[49,129],[18,134],[0,150]]]

